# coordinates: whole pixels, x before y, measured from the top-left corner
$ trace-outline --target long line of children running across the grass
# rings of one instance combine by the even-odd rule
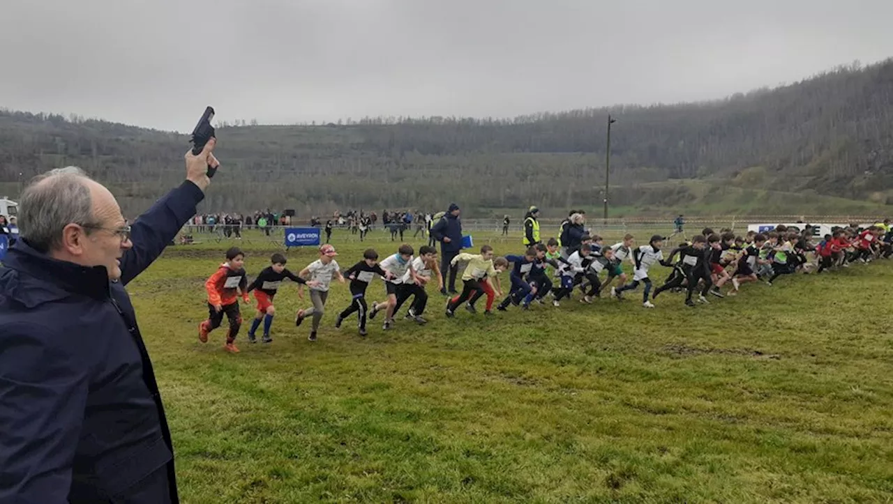
[[[533,303],[545,304],[547,297],[554,306],[564,299],[572,298],[575,289],[580,289],[580,302],[591,303],[603,293],[622,300],[624,295],[644,285],[642,306],[654,308],[653,301],[666,291],[686,293],[685,304],[695,306],[693,299],[706,303],[708,293],[717,297],[736,295],[741,285],[763,281],[772,285],[781,276],[797,272],[822,273],[838,268],[847,268],[856,262],[874,259],[889,259],[893,255],[893,231],[889,219],[867,229],[853,227],[834,228],[832,234],[824,235],[814,244],[812,230],[789,231],[784,226],[776,227],[769,233],[748,232],[735,235],[729,229],[714,233],[705,228],[700,235],[667,250],[661,235],[653,235],[647,244],[637,245],[633,235],[625,235],[617,244],[605,246],[597,235],[582,235],[581,244],[574,250],[561,247],[555,239],[547,243],[530,246],[522,255],[494,257],[490,245],[480,247],[480,253],[460,253],[452,265],[464,264],[463,290],[447,301],[446,315],[455,317],[455,311],[464,305],[465,310],[477,312],[476,303],[486,296],[484,315],[492,315],[497,297],[502,297],[503,289],[499,273],[511,269],[511,285],[497,310],[505,311],[510,306],[523,310],[530,309]],[[205,283],[209,316],[198,327],[199,340],[208,341],[208,334],[221,326],[223,317],[229,319],[229,333],[226,350],[238,352],[236,336],[242,324],[238,297],[250,303],[248,293],[254,292],[256,302],[255,318],[248,330],[248,341],[257,341],[257,330],[263,324],[263,343],[272,341],[270,329],[276,313],[273,298],[283,280],[296,282],[297,294],[304,299],[304,286],[310,289],[312,306],[298,310],[296,326],[301,326],[306,318],[311,318],[310,341],[316,341],[320,322],[325,313],[331,282],[349,280],[351,304],[338,313],[335,326],[356,313],[360,335],[366,335],[367,319],[375,318],[384,312],[383,329],[394,324],[400,308],[413,298],[406,310],[405,318],[425,324],[422,318],[428,294],[425,286],[437,282],[438,290],[443,289],[437,255],[430,245],[422,246],[417,256],[411,245],[400,245],[396,253],[379,261],[379,254],[373,249],[363,252],[363,259],[342,271],[335,256],[335,247],[324,244],[320,247],[320,257],[307,265],[298,274],[289,271],[286,258],[280,253],[271,257],[271,265],[263,269],[253,282],[248,283],[244,269],[245,254],[238,248],[226,252],[226,262],[220,265]],[[813,260],[807,253],[814,254]],[[628,261],[632,266],[632,278],[623,272],[622,264]],[[649,270],[655,264],[671,268],[670,275],[663,285],[653,289]],[[600,277],[605,273],[604,280]],[[366,289],[379,277],[383,280],[387,300],[366,302]],[[629,282],[627,282],[630,280]],[[723,292],[724,285],[731,285]]]

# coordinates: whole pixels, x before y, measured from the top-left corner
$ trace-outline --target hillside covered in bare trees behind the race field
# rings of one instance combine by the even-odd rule
[[[572,206],[599,208],[609,113],[617,119],[611,203],[619,212],[710,206],[856,213],[884,211],[893,203],[893,60],[842,66],[709,103],[623,105],[513,120],[367,118],[256,126],[217,112],[224,166],[204,203],[209,211],[296,208],[306,215],[449,201],[479,214],[530,204],[556,209],[547,211],[555,215]],[[182,177],[187,148],[185,135],[4,111],[0,193],[15,194],[22,180],[41,170],[76,164],[113,186],[125,211],[139,211]]]

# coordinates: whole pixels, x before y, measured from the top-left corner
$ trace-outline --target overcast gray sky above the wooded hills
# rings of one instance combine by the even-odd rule
[[[2,0],[0,107],[191,130],[718,98],[893,56],[891,0]]]

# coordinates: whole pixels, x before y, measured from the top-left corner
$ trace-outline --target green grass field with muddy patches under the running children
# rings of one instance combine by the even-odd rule
[[[383,259],[396,244],[382,235]],[[249,237],[254,277],[272,249]],[[336,283],[316,343],[309,321],[294,326],[309,301],[286,283],[275,341],[246,343],[243,328],[232,355],[222,328],[196,337],[204,280],[228,244],[170,247],[129,285],[187,504],[893,495],[893,262],[747,285],[696,309],[666,293],[644,310],[639,290],[447,319],[430,287],[428,325],[398,317],[386,333],[376,318],[365,339],[352,321],[333,327],[349,300]],[[367,246],[334,244],[344,269]],[[288,267],[315,258],[291,251]],[[376,280],[368,297],[383,293]]]

